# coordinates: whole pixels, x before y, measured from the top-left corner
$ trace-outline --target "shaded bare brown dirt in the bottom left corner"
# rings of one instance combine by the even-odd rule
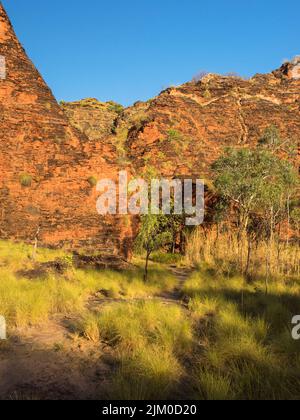
[[[99,353],[12,337],[0,344],[0,400],[105,399],[110,367]]]

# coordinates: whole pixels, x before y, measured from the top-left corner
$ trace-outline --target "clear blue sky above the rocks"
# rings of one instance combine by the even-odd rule
[[[299,0],[2,0],[58,100],[146,100],[200,70],[248,76],[300,53]]]

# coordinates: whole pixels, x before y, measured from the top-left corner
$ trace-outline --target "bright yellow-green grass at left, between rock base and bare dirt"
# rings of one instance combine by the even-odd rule
[[[32,279],[26,271],[40,262],[68,258],[64,251],[39,249],[37,262],[31,259],[32,248],[25,244],[0,241],[0,313],[8,327],[23,327],[45,322],[54,314],[80,314],[90,296],[105,290],[115,299],[147,298],[162,290],[171,290],[176,279],[166,270],[150,267],[149,281],[142,281],[142,267],[122,273],[110,270],[76,270],[70,266],[64,274],[39,273]],[[104,298],[104,295],[103,295]]]

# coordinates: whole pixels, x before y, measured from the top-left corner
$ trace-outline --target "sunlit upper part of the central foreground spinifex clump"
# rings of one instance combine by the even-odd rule
[[[111,345],[118,344],[119,348],[136,349],[159,344],[177,354],[184,354],[190,349],[191,323],[177,305],[155,301],[109,304],[100,313],[89,313],[83,317],[83,334],[92,320],[101,339]]]

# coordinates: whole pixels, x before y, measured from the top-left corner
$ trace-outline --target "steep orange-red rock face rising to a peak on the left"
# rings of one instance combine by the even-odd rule
[[[69,125],[0,5],[0,235],[127,254],[131,226],[96,212],[88,179],[117,179],[116,150]],[[108,162],[107,158],[110,159]]]

